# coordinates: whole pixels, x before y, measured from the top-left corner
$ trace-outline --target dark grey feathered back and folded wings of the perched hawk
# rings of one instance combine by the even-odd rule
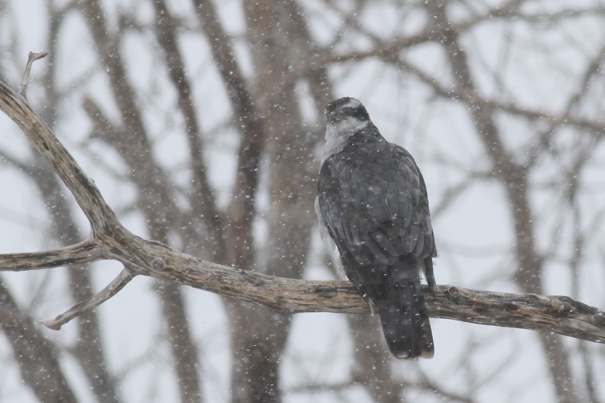
[[[362,266],[436,256],[424,179],[402,147],[347,146],[324,162],[318,187],[322,218],[343,256]]]

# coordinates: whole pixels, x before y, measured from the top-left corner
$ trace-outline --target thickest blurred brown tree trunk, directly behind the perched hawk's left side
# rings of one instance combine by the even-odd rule
[[[294,2],[244,1],[257,105],[265,117],[269,179],[268,233],[257,269],[274,276],[300,278],[315,223],[313,161],[315,138],[304,130],[295,83],[284,83],[296,53],[308,54],[309,40]],[[306,45],[306,46],[305,46]],[[232,323],[232,401],[278,402],[279,363],[286,347],[290,315],[235,301]]]

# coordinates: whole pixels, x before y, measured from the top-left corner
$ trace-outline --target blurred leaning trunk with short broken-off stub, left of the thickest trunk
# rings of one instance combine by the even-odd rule
[[[105,65],[116,105],[122,114],[123,126],[115,126],[122,126],[121,131],[116,131],[111,126],[105,127],[105,137],[102,140],[114,147],[132,170],[132,179],[139,193],[140,208],[148,222],[149,236],[168,245],[171,243],[168,238],[170,225],[179,222],[181,217],[174,205],[169,176],[155,163],[152,156],[142,111],[137,105],[135,91],[126,76],[126,68],[117,46],[116,35],[119,33],[111,34],[99,1],[87,0],[80,7],[90,25],[91,36],[100,60]],[[97,113],[98,116],[102,116],[102,113]],[[103,118],[102,121],[109,120]],[[160,283],[158,289],[163,300],[162,315],[169,334],[168,344],[178,379],[180,401],[198,402],[203,393],[198,373],[197,349],[191,340],[191,330],[180,288],[175,284]]]

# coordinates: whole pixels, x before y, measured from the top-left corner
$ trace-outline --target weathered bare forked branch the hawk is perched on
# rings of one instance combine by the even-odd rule
[[[289,313],[370,312],[367,303],[361,300],[355,287],[349,282],[265,276],[204,262],[163,243],[135,236],[115,219],[113,211],[103,201],[94,182],[85,175],[48,126],[24,100],[2,82],[0,109],[15,120],[34,146],[47,158],[68,189],[76,196],[93,228],[97,228],[97,231],[93,231],[93,240],[73,247],[51,253],[0,255],[0,271],[15,271],[15,267],[18,267],[17,270],[25,270],[26,265],[30,265],[30,269],[37,269],[73,262],[115,259],[122,262],[130,272],[122,272],[106,288],[105,296],[111,297],[132,276],[144,274]],[[16,264],[16,257],[24,259],[25,263]],[[507,294],[442,285],[437,288],[436,299],[431,297],[428,290],[425,290],[425,298],[428,301],[428,313],[432,317],[491,326],[543,330],[605,343],[605,312],[569,297]],[[99,300],[102,302],[103,298]],[[91,301],[87,301],[82,306],[92,305],[94,304]],[[82,306],[79,306],[79,309]],[[74,309],[78,309],[78,306]],[[59,322],[65,323],[65,320],[56,323]]]

